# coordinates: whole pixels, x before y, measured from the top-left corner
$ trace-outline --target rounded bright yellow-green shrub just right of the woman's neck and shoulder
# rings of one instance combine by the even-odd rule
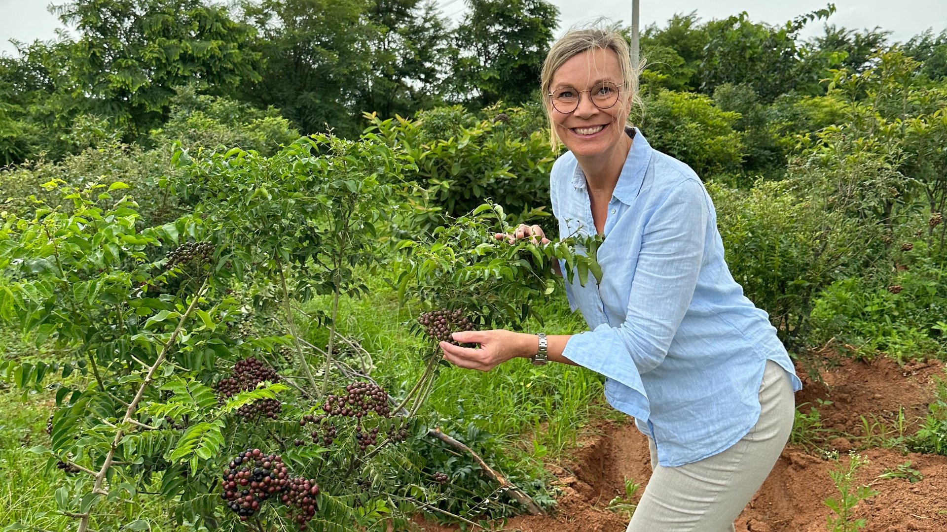
[[[661,90],[644,101],[634,122],[655,150],[680,159],[705,178],[741,169],[744,134],[734,129],[739,113],[692,93]]]

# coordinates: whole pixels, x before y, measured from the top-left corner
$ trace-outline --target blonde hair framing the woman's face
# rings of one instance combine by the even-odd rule
[[[601,23],[597,23],[599,24]],[[563,63],[583,52],[599,48],[612,50],[618,57],[622,80],[621,98],[626,102],[639,105],[641,103],[641,99],[638,98],[638,72],[644,62],[642,61],[636,67],[632,65],[632,53],[625,38],[616,30],[607,27],[573,27],[549,48],[549,53],[546,54],[543,62],[543,71],[540,74],[542,81],[540,91],[543,95],[545,116],[549,121],[549,143],[552,144],[554,151],[559,149],[559,135],[552,121],[552,110],[548,100],[552,77],[559,67],[563,66]],[[628,124],[631,125],[631,122]]]

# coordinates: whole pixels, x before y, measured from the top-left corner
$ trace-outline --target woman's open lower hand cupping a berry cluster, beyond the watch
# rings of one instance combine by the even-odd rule
[[[479,349],[461,347],[441,342],[444,359],[460,367],[490,371],[509,359],[526,356],[530,340],[539,345],[531,334],[513,332],[502,328],[492,330],[464,330],[455,332],[452,337],[463,344],[479,344]],[[535,346],[533,346],[535,347]]]

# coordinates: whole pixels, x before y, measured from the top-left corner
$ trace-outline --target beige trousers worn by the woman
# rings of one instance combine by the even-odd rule
[[[789,440],[795,399],[789,375],[766,362],[759,386],[757,424],[724,452],[699,462],[665,468],[649,438],[652,477],[626,532],[733,532]]]

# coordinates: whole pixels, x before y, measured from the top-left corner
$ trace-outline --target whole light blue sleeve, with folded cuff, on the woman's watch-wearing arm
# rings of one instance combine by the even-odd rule
[[[704,259],[708,217],[700,182],[687,179],[673,186],[644,226],[624,323],[574,335],[563,350],[565,358],[637,392],[640,400],[633,402],[641,403],[643,419],[649,409],[641,374],[667,356],[690,306]]]

